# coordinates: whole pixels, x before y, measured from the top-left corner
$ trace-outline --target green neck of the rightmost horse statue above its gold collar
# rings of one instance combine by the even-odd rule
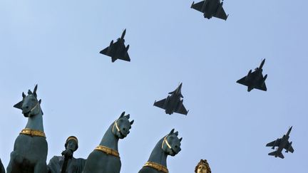
[[[162,164],[163,166],[167,167],[167,154],[162,149],[163,139],[158,141],[158,143],[155,145],[152,153],[150,154],[150,158],[148,159],[148,162],[155,162],[158,164]]]

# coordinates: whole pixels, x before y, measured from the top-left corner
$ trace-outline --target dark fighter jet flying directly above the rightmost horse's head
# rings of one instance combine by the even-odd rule
[[[177,112],[180,114],[187,115],[188,110],[185,109],[183,105],[183,95],[181,93],[181,88],[182,88],[182,83],[176,88],[173,92],[170,92],[167,98],[163,100],[159,100],[156,102],[154,105],[157,106],[158,108],[163,108],[166,112],[166,114],[173,114],[173,112]]]

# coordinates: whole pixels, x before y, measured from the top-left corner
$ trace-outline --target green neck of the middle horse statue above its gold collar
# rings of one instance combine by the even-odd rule
[[[118,137],[116,135],[113,135],[113,124],[108,128],[108,130],[105,132],[105,135],[103,135],[103,139],[101,140],[100,145],[103,145],[105,147],[111,148],[113,150],[118,151]]]

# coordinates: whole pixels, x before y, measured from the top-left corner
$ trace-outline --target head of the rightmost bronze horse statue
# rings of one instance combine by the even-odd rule
[[[162,149],[163,151],[170,155],[175,156],[181,150],[180,142],[182,141],[182,137],[178,138],[178,132],[174,132],[174,129],[163,138]]]

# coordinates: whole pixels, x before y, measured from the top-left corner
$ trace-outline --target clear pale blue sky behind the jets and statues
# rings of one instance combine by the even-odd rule
[[[193,1],[0,1],[0,158],[6,167],[26,125],[13,108],[39,84],[48,160],[76,135],[88,157],[122,111],[135,120],[119,142],[121,172],[138,172],[172,128],[182,151],[170,172],[307,172],[308,2],[229,1],[227,21],[204,19]],[[197,1],[196,1],[197,2]],[[131,62],[98,52],[127,29]],[[267,92],[235,83],[266,58]],[[155,100],[183,82],[188,116]],[[270,157],[267,142],[293,125],[295,152]]]

